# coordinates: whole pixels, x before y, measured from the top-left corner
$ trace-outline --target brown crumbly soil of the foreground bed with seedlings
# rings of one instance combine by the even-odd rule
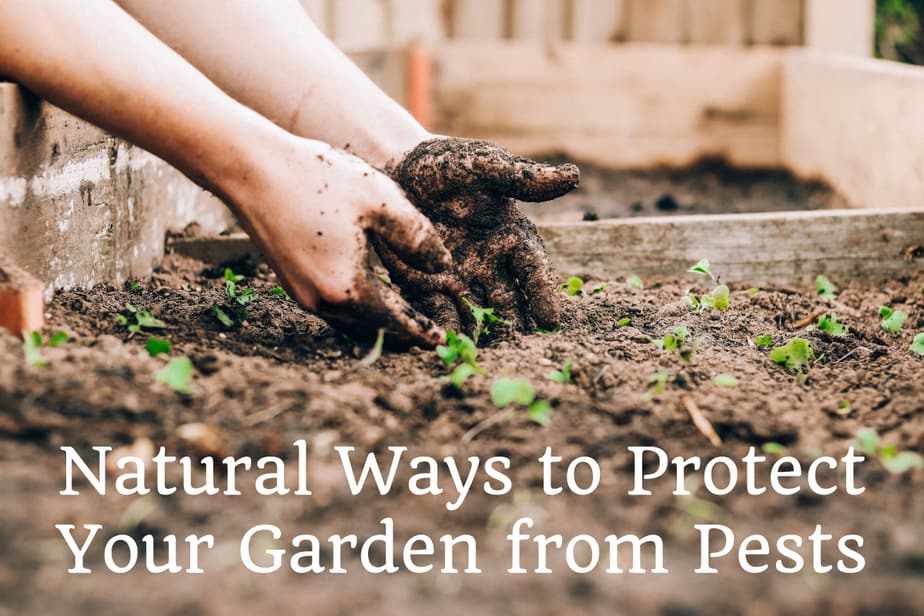
[[[883,443],[924,452],[924,359],[908,350],[914,333],[924,330],[924,272],[885,283],[836,280],[842,290],[830,308],[849,327],[841,337],[793,327],[825,306],[810,287],[750,295],[748,285],[732,284],[729,310],[693,312],[681,298],[691,286],[705,292],[701,279],[647,280],[644,290],[610,282],[602,293],[562,296],[560,333],[487,341],[479,361],[491,376],[472,377],[455,391],[441,380],[446,369],[433,351],[386,351],[363,366],[368,347],[333,334],[273,294],[276,281],[265,266],[232,267],[247,276],[240,285],[260,294],[239,328],[224,327],[212,310],[228,301],[222,268],[173,258],[137,284],[57,294],[48,307],[46,334],[65,330],[74,340],[43,348],[47,367],[28,365],[21,344],[0,336],[0,613],[922,613],[924,472],[891,474],[869,460],[858,472],[858,483],[867,487],[861,496],[815,496],[804,490],[803,480],[796,481],[803,492],[795,496],[748,496],[741,486],[728,496],[712,496],[694,480],[695,498],[676,497],[668,479],[654,486],[652,496],[632,497],[627,448],[657,445],[671,456],[740,459],[750,446],[779,443],[807,464],[821,453],[842,456],[862,428],[871,428]],[[182,395],[155,381],[167,358],[149,357],[147,336],[131,335],[117,323],[115,314],[131,316],[129,303],[166,322],[159,333],[172,341],[173,356],[189,357],[195,367],[193,393]],[[881,305],[910,315],[901,334],[880,328]],[[617,326],[624,318],[631,323]],[[679,325],[702,339],[689,364],[650,342]],[[755,348],[753,341],[765,333],[777,342],[804,336],[824,360],[800,383],[773,364],[768,351]],[[572,384],[544,378],[569,360]],[[646,401],[649,379],[659,370],[673,378],[663,394]],[[712,379],[723,373],[734,375],[739,386],[715,385]],[[533,382],[553,406],[549,427],[523,412],[494,407],[489,392],[501,375]],[[711,446],[694,426],[685,396],[714,426],[721,447]],[[80,497],[58,494],[64,486],[62,445],[84,455],[104,444],[138,455],[161,445],[170,454],[196,458],[273,454],[294,464],[292,443],[302,438],[309,444],[311,497],[258,496],[251,473],[238,479],[242,496],[131,498],[111,488],[100,496],[85,483]],[[457,460],[506,456],[515,487],[501,497],[475,489],[450,512],[445,503],[454,491],[448,480],[444,495],[411,496],[401,487],[412,472],[403,465],[389,496],[366,490],[354,497],[332,449],[341,444],[362,455],[397,445],[410,447],[411,455]],[[543,495],[536,460],[547,446],[566,461],[596,458],[599,489],[583,497]],[[555,477],[563,481],[562,472]],[[766,484],[766,474],[760,477]],[[323,541],[354,532],[362,539],[381,532],[379,521],[386,516],[395,519],[399,555],[403,541],[416,533],[471,533],[484,573],[371,575],[361,571],[356,555],[344,561],[350,575],[296,575],[285,568],[257,575],[240,563],[240,538],[256,524],[282,528],[286,547],[299,533]],[[534,534],[562,533],[566,541],[579,533],[601,545],[608,534],[661,535],[670,574],[605,574],[605,566],[567,574],[558,553],[550,561],[553,575],[508,575],[505,536],[521,516],[536,520]],[[835,538],[859,534],[866,540],[866,566],[856,575],[816,574],[806,547],[802,573],[776,573],[773,559],[757,558],[771,572],[744,574],[733,555],[716,561],[719,574],[697,575],[693,525],[707,522],[727,524],[739,541],[763,534],[771,547],[784,534],[808,537],[816,524]],[[216,545],[202,557],[203,575],[143,569],[107,574],[100,571],[102,542],[87,559],[96,572],[69,575],[70,555],[54,527],[60,523],[100,523],[104,537],[174,533],[182,541],[189,533],[212,533]],[[832,542],[822,558],[836,563]]]

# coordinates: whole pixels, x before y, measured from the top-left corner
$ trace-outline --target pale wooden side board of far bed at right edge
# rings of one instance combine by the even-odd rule
[[[856,207],[924,206],[924,67],[793,50],[784,74],[787,166]]]

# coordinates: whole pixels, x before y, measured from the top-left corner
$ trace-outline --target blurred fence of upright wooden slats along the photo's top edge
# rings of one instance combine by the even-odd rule
[[[526,40],[803,45],[869,55],[874,0],[302,0],[344,49]]]

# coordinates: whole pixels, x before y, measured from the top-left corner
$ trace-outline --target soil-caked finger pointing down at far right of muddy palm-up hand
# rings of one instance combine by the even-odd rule
[[[532,227],[532,223],[528,223]],[[529,316],[537,327],[555,329],[561,323],[561,301],[555,288],[555,270],[535,227],[512,255],[511,268],[526,296]]]

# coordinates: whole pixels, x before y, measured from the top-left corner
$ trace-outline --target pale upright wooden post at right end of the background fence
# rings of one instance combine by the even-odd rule
[[[875,20],[875,0],[805,0],[805,44],[870,57]]]

